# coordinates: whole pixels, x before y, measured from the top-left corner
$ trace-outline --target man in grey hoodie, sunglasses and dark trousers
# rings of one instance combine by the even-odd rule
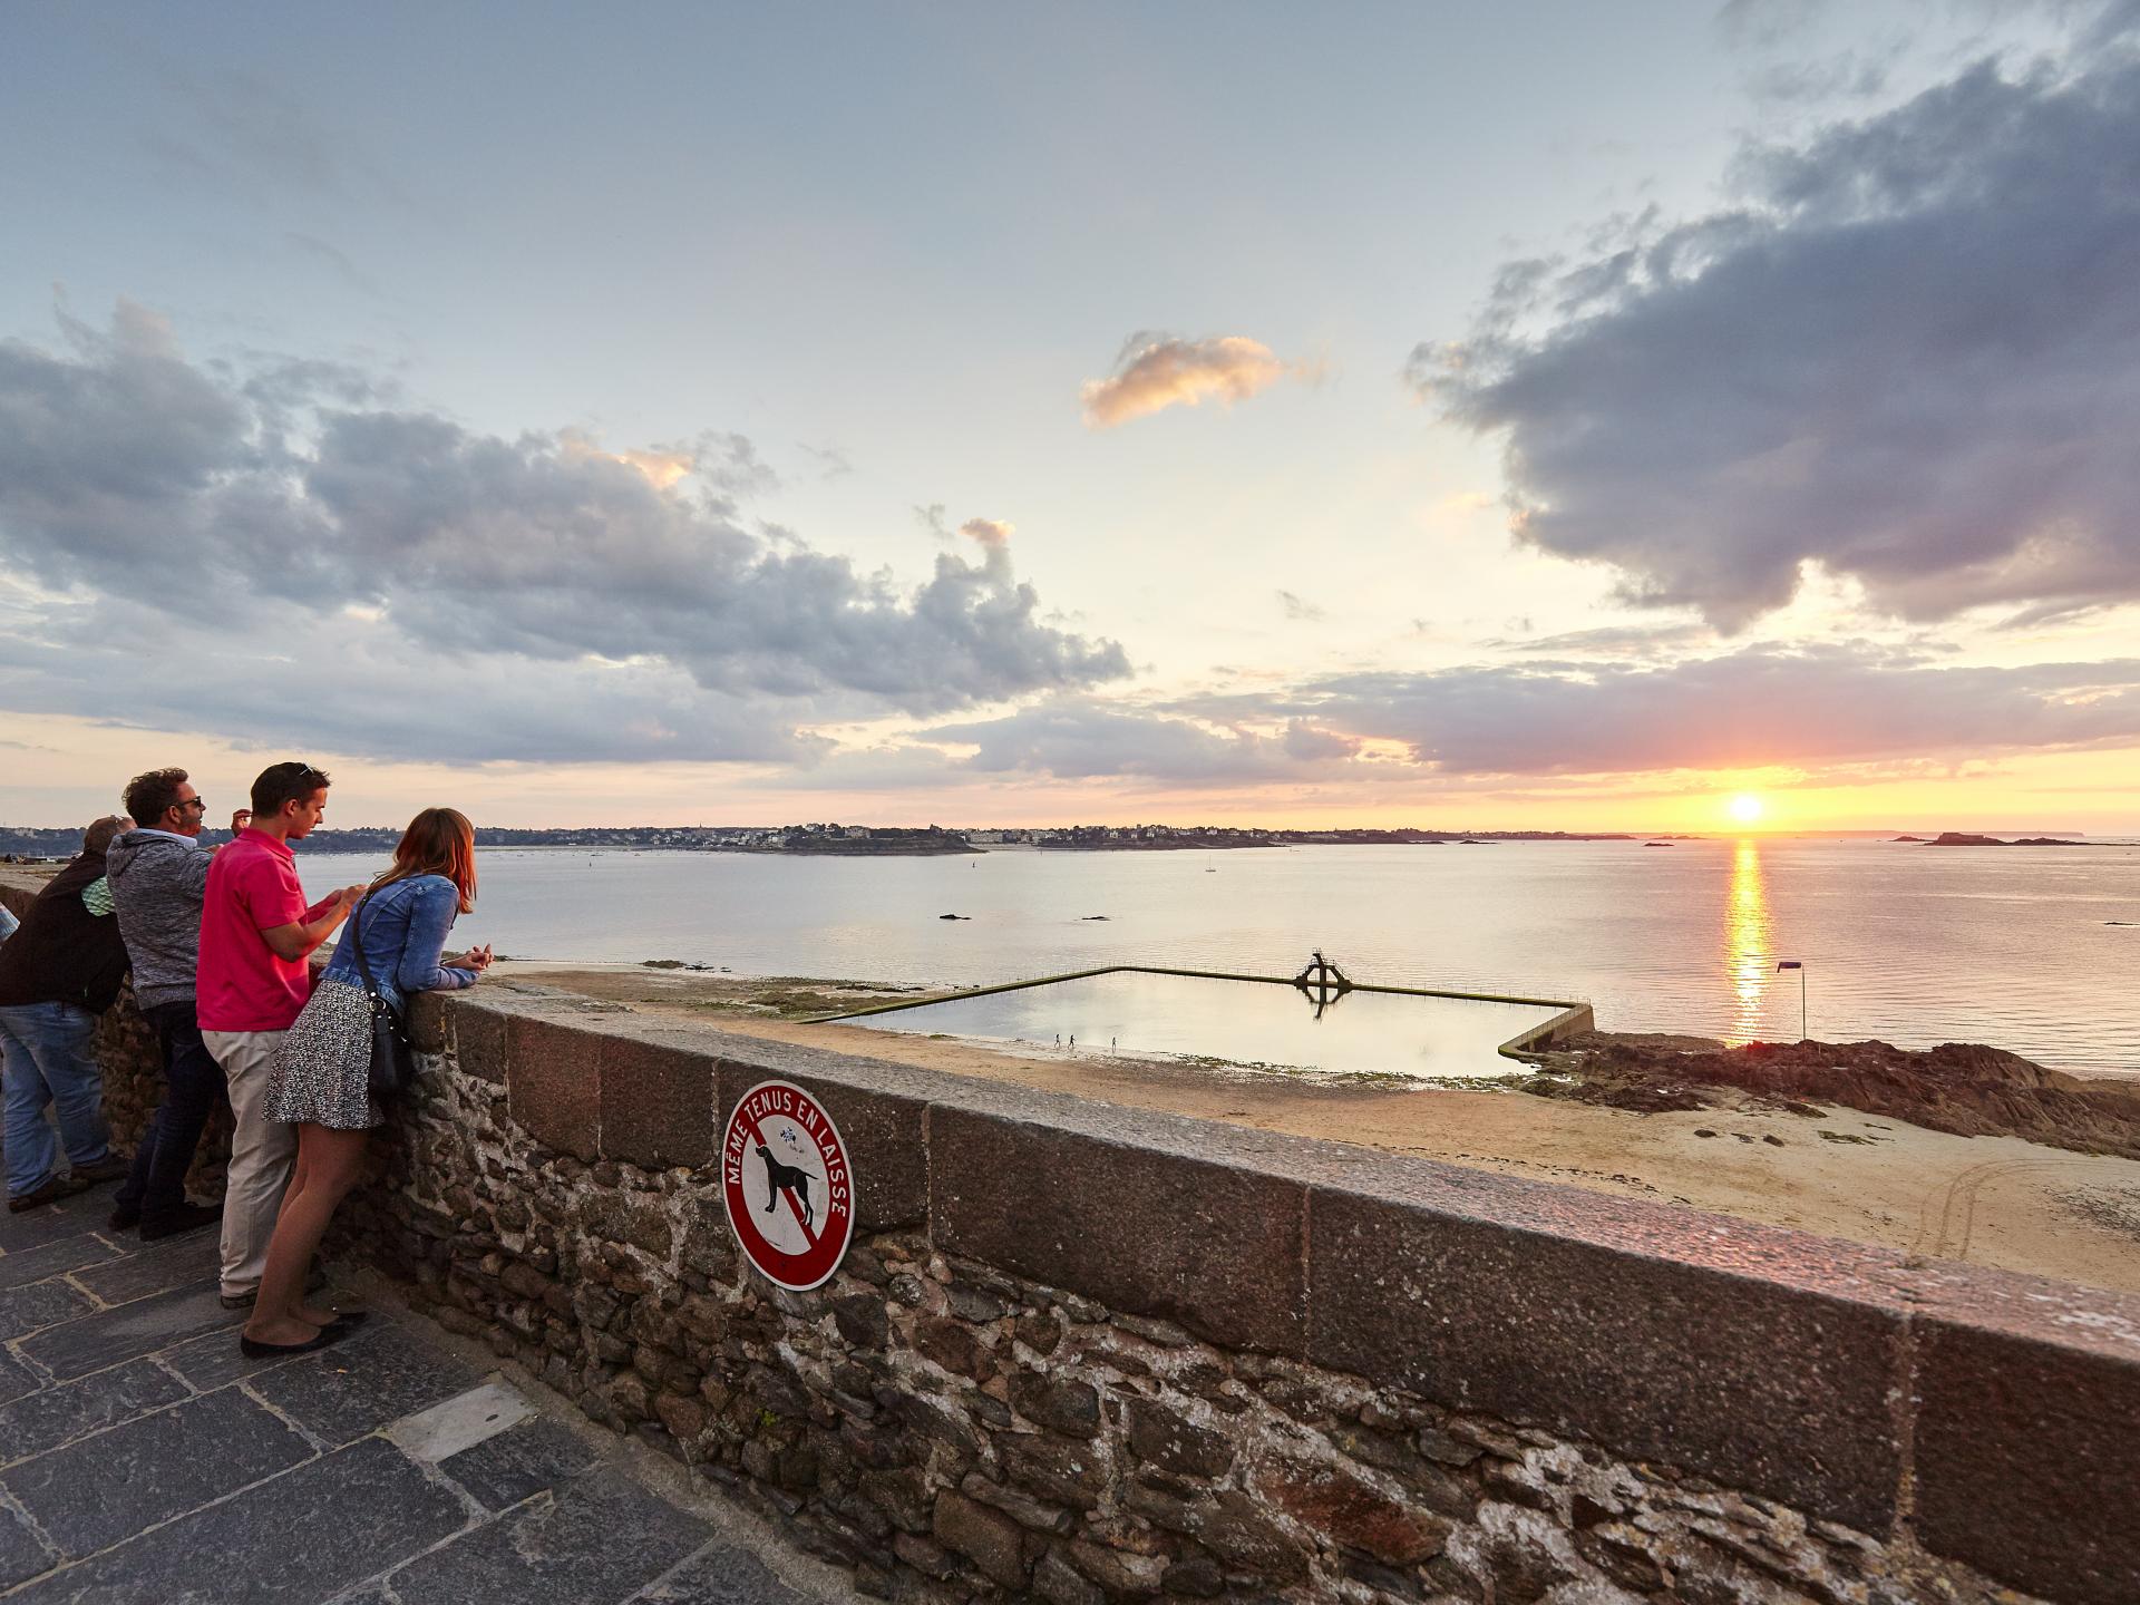
[[[135,1149],[133,1173],[113,1201],[111,1226],[139,1226],[143,1241],[208,1226],[220,1205],[186,1201],[186,1171],[201,1128],[223,1096],[223,1068],[193,1017],[193,972],[201,952],[201,895],[214,852],[199,845],[208,805],[182,768],[156,768],[126,783],[139,822],[105,854],[120,935],[133,961],[135,1004],[156,1027],[169,1085]],[[231,822],[242,830],[248,811]]]

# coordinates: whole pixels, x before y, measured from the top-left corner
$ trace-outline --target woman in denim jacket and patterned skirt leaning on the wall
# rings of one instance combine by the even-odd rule
[[[454,809],[409,822],[394,865],[349,916],[297,1023],[274,1051],[263,1111],[297,1130],[297,1175],[268,1243],[246,1355],[323,1348],[357,1316],[306,1305],[304,1275],[342,1196],[364,1168],[385,1111],[370,1089],[372,1002],[400,1012],[411,993],[460,991],[490,967],[490,948],[443,963],[454,920],[475,907],[475,828]]]

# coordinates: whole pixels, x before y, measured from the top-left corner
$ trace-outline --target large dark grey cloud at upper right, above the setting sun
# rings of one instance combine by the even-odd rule
[[[1736,210],[1513,263],[1415,381],[1504,437],[1524,541],[1725,629],[1806,563],[1911,618],[2140,597],[2140,56],[2074,60],[1982,62],[1748,152]]]

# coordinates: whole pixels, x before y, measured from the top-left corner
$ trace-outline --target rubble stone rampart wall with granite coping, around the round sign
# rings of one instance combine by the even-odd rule
[[[539,989],[419,1023],[349,1245],[875,1592],[2140,1599],[2136,1299]],[[770,1074],[860,1181],[807,1295],[713,1164]]]

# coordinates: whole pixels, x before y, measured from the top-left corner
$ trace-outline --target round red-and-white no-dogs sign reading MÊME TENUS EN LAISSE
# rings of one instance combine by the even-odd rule
[[[721,1201],[745,1256],[796,1293],[839,1269],[854,1235],[847,1145],[815,1098],[760,1081],[721,1134]]]

